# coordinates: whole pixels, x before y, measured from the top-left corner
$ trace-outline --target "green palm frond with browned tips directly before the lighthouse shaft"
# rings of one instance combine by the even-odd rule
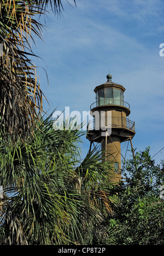
[[[75,171],[77,181],[80,181],[82,191],[90,195],[90,202],[99,209],[105,207],[107,212],[112,211],[113,199],[108,194],[110,178],[112,177],[112,165],[104,162],[102,153],[93,148]]]

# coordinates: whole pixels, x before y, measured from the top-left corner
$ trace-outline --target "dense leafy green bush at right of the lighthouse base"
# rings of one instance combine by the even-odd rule
[[[106,219],[107,245],[164,245],[164,163],[155,165],[149,148],[124,163],[126,182],[110,189],[113,213]]]

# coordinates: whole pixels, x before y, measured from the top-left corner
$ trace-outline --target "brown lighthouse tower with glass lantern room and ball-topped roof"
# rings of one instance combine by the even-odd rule
[[[102,155],[113,165],[113,183],[121,181],[121,142],[131,141],[135,135],[134,122],[129,120],[130,104],[124,101],[124,86],[107,82],[96,86],[96,102],[91,104],[93,117],[87,125],[87,139],[101,143]],[[132,145],[132,144],[131,144]],[[105,155],[104,155],[105,154]]]

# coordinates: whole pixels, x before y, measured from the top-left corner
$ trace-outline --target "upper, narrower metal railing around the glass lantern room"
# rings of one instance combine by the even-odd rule
[[[130,104],[128,104],[126,101],[120,101],[120,100],[101,100],[101,101],[95,101],[91,104],[90,109],[99,107],[99,106],[110,106],[110,105],[117,105],[117,106],[124,106],[126,108],[130,109]]]

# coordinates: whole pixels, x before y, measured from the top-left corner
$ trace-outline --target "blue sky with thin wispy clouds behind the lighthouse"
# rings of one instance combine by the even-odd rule
[[[164,159],[163,0],[62,3],[61,16],[50,10],[41,18],[46,22],[43,42],[37,39],[33,47],[42,58],[34,62],[50,104],[45,102],[44,110],[50,113],[56,107],[62,111],[69,106],[70,112],[77,110],[81,115],[89,111],[95,102],[93,90],[107,82],[110,70],[112,81],[126,88],[125,101],[136,126],[133,148],[142,151],[150,146],[150,154],[159,164]],[[84,137],[83,155],[88,149]]]

